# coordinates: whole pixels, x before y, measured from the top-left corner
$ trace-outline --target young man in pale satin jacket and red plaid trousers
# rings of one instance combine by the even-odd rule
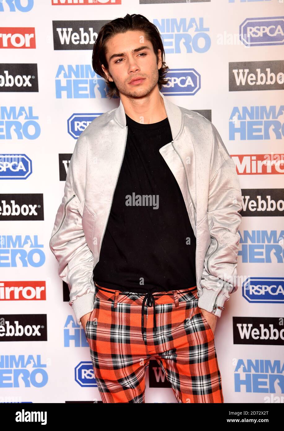
[[[160,92],[157,28],[100,30],[93,68],[120,97],[74,148],[50,248],[104,403],[144,403],[154,356],[181,403],[223,403],[217,317],[237,289],[241,189],[214,125]]]

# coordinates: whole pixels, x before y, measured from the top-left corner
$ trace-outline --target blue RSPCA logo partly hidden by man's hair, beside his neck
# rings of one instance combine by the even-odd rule
[[[200,74],[195,69],[174,69],[165,77],[169,82],[163,85],[161,93],[167,96],[193,96],[201,88]]]

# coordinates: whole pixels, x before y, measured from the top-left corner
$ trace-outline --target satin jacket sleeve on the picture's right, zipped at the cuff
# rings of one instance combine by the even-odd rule
[[[238,289],[237,257],[241,224],[241,187],[235,163],[211,123],[213,150],[210,163],[208,224],[211,243],[201,278],[198,306],[221,317],[229,294]]]

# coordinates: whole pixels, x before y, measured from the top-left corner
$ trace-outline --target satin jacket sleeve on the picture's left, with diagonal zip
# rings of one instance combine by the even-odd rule
[[[76,321],[94,308],[93,253],[82,227],[86,184],[87,140],[80,135],[72,154],[62,203],[56,214],[49,247],[59,264],[59,277],[70,290],[69,305]]]

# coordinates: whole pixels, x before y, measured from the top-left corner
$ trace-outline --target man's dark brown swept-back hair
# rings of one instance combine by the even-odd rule
[[[159,79],[158,79],[158,87],[161,91],[162,85],[167,84],[168,80],[165,79],[165,75],[169,70],[166,65],[165,59],[165,51],[163,42],[161,39],[161,34],[159,33],[157,27],[152,24],[145,16],[133,13],[129,15],[127,13],[124,18],[116,18],[112,21],[106,23],[102,26],[99,31],[98,37],[96,38],[94,47],[93,47],[93,56],[92,56],[92,66],[94,71],[105,79],[109,91],[107,93],[108,97],[113,97],[114,95],[119,97],[119,92],[117,90],[117,86],[114,82],[108,81],[108,77],[105,75],[105,72],[102,69],[102,64],[105,66],[105,69],[108,70],[108,62],[105,57],[106,51],[106,43],[107,41],[113,37],[115,34],[125,33],[129,30],[139,30],[145,32],[145,37],[151,42],[154,48],[154,53],[157,56],[158,61],[158,50],[161,50],[161,60],[162,67],[159,69]]]

